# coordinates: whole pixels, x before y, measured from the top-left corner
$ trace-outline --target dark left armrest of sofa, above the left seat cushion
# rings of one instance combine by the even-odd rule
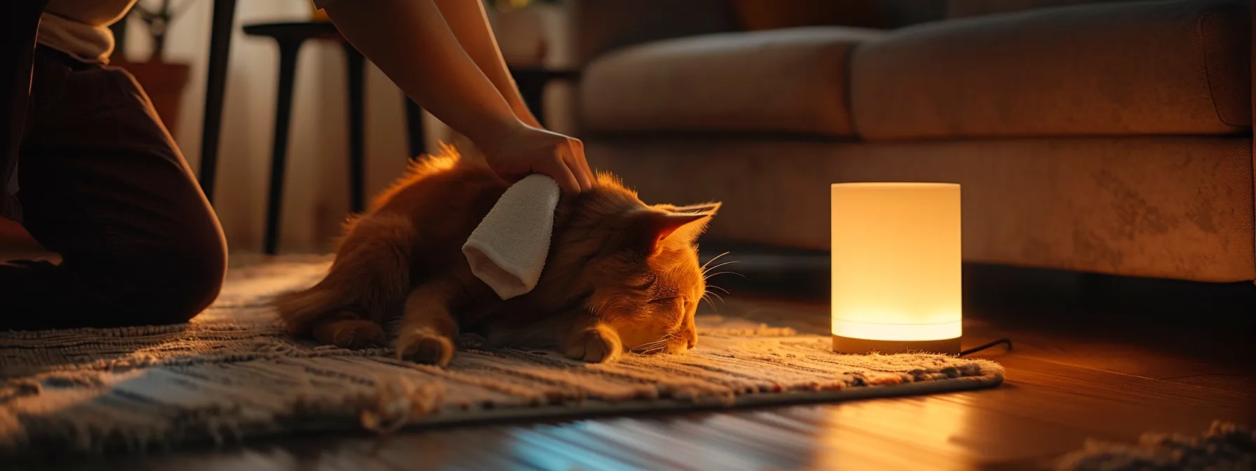
[[[582,67],[617,48],[741,29],[727,0],[573,0],[571,10]]]

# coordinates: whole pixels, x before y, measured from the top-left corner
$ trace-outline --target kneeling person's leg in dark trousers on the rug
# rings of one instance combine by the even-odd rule
[[[226,242],[134,79],[39,48],[23,225],[59,265],[0,265],[0,329],[181,323],[217,296]]]

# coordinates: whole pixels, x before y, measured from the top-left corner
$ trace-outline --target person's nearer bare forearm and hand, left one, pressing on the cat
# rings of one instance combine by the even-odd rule
[[[322,6],[349,44],[411,99],[470,138],[502,177],[544,173],[566,192],[593,186],[580,141],[520,121],[433,0],[324,0]]]

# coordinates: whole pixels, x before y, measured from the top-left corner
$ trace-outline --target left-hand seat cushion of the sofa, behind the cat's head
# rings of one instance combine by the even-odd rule
[[[847,57],[882,31],[790,28],[669,39],[585,68],[582,127],[593,132],[852,136]]]

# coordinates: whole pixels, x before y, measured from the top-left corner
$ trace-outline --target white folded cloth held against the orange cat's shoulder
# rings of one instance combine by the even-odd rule
[[[511,185],[462,245],[471,273],[510,299],[536,288],[549,255],[561,191],[544,175]]]

